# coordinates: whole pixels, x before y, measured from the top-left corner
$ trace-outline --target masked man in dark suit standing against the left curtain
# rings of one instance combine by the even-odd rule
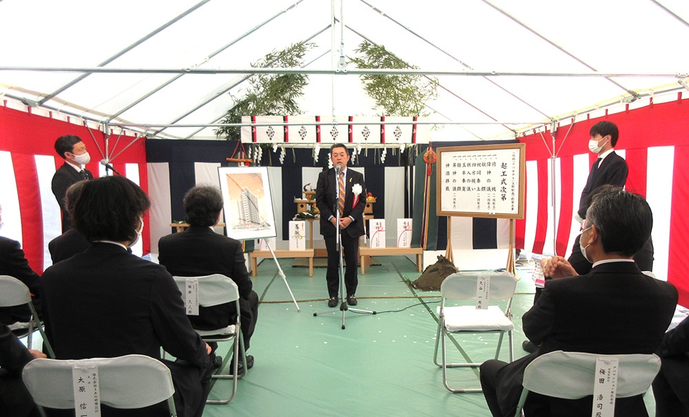
[[[60,136],[55,141],[55,151],[65,160],[65,163],[52,176],[52,194],[62,209],[62,232],[64,233],[72,227],[70,214],[65,204],[67,189],[76,181],[93,179],[93,174],[85,168],[85,165],[91,161],[91,156],[79,136],[73,134]]]

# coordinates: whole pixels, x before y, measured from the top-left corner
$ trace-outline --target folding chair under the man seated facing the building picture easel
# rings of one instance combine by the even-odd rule
[[[225,366],[225,363],[223,363],[223,366],[218,369],[218,374],[212,376],[212,378],[216,379],[232,379],[234,381],[232,395],[225,400],[206,401],[207,404],[227,404],[237,393],[237,380],[245,376],[247,372],[247,367],[245,366],[243,373],[238,375],[239,361],[236,360],[236,358],[239,358],[239,355],[241,354],[241,358],[243,360],[242,363],[247,363],[247,354],[244,349],[244,338],[241,334],[239,289],[232,279],[222,274],[212,274],[206,276],[175,276],[174,281],[177,283],[177,286],[183,294],[185,307],[187,308],[187,316],[193,315],[189,314],[193,309],[198,311],[198,306],[212,307],[213,305],[231,303],[232,301],[234,301],[236,305],[237,321],[234,325],[212,330],[195,329],[201,338],[203,338],[203,340],[206,342],[232,342],[232,352],[234,352],[233,357],[235,358],[234,364],[232,365],[232,373],[220,374]],[[193,289],[195,285],[197,290]]]

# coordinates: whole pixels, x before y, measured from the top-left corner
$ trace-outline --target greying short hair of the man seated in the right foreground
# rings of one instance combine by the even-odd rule
[[[619,187],[599,188],[586,212],[586,222],[595,225],[604,252],[632,256],[650,237],[650,205],[638,194]]]

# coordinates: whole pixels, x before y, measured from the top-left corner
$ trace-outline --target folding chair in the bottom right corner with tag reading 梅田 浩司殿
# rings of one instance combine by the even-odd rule
[[[569,400],[593,395],[597,378],[600,377],[596,369],[596,360],[599,358],[618,360],[615,398],[645,394],[660,370],[660,358],[655,354],[601,355],[562,350],[548,352],[535,358],[524,369],[524,389],[515,417],[522,414],[530,391]],[[602,417],[608,415],[613,416],[601,414]]]

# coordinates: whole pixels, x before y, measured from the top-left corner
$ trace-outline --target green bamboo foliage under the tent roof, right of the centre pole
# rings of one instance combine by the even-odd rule
[[[360,43],[358,56],[349,59],[357,68],[415,69],[382,45]],[[422,75],[364,74],[364,89],[387,116],[428,116],[426,103],[438,96],[438,79]]]

